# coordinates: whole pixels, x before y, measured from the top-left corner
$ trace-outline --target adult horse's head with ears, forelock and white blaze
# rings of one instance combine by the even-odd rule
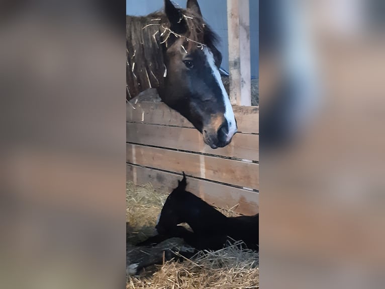
[[[237,124],[219,73],[217,36],[203,22],[196,0],[188,0],[185,11],[165,0],[165,14],[170,26],[164,32],[167,72],[160,97],[186,117],[211,148],[225,147]]]

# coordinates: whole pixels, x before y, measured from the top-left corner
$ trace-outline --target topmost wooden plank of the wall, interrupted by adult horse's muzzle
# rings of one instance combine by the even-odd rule
[[[162,102],[129,103],[127,122],[194,127],[183,116]],[[233,106],[239,132],[259,133],[259,107]]]

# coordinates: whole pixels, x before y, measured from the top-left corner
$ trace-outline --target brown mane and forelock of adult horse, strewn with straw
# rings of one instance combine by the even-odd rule
[[[126,16],[126,75],[127,99],[130,100],[149,88],[163,86],[165,73],[163,49],[169,38],[183,37],[187,51],[213,47],[218,35],[198,16],[179,9],[185,23],[185,33],[179,35],[170,29],[170,22],[163,12],[147,16]]]

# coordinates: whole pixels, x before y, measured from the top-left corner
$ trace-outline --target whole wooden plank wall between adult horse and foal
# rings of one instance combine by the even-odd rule
[[[187,189],[217,207],[258,212],[258,107],[233,106],[238,133],[213,150],[191,123],[163,103],[127,104],[127,180],[171,192]]]

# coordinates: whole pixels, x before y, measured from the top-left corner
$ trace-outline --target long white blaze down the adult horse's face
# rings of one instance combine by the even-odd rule
[[[214,55],[213,53],[209,50],[209,48],[205,47],[203,50],[207,62],[209,63],[211,67],[211,73],[213,74],[215,80],[217,81],[221,91],[222,91],[222,97],[223,101],[225,103],[225,118],[227,120],[227,124],[229,125],[229,133],[226,135],[226,141],[230,141],[231,137],[233,137],[234,133],[237,132],[237,125],[235,123],[235,116],[233,112],[233,107],[231,106],[229,96],[227,95],[227,92],[225,90],[225,87],[223,85],[222,79],[221,79],[221,74],[219,73],[218,67],[215,65],[215,60],[214,60]]]

